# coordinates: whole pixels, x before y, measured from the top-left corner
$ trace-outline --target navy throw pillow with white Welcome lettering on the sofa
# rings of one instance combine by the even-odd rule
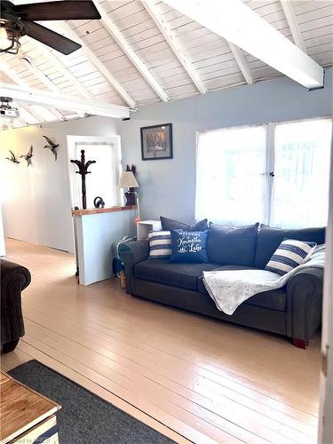
[[[202,263],[208,262],[206,231],[170,230],[171,258],[170,262]]]

